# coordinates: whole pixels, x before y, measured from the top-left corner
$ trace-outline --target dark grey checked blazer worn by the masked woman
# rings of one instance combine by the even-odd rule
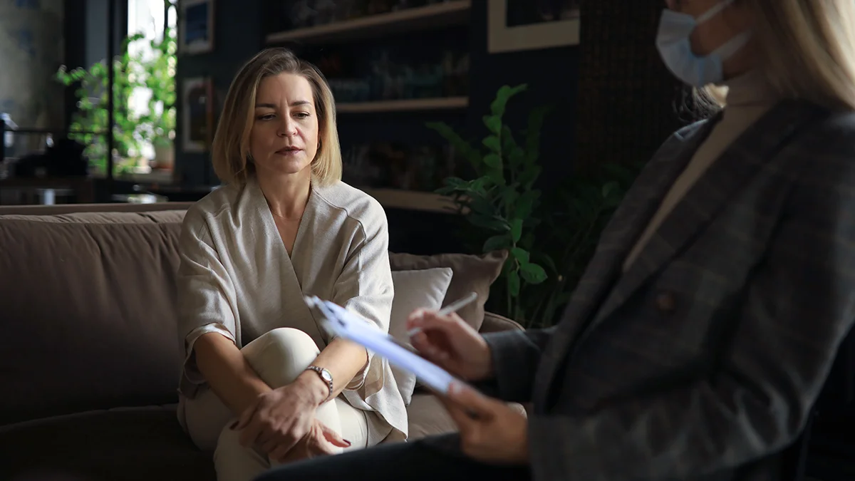
[[[622,262],[714,124],[672,135],[562,321],[487,335],[539,481],[771,480],[855,316],[855,114],[778,104]]]

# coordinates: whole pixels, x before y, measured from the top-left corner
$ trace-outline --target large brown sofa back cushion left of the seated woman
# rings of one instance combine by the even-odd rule
[[[177,400],[182,218],[0,217],[0,425]]]

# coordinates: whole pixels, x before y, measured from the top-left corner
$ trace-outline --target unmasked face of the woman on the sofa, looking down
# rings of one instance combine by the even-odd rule
[[[278,74],[258,85],[250,153],[263,174],[298,174],[318,151],[318,117],[309,80]]]

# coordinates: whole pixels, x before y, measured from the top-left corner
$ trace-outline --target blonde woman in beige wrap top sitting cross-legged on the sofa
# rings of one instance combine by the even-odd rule
[[[212,157],[227,185],[192,205],[180,236],[179,420],[215,451],[217,478],[405,438],[388,362],[331,339],[303,300],[389,328],[386,215],[340,181],[321,73],[289,50],[253,57],[229,89]]]

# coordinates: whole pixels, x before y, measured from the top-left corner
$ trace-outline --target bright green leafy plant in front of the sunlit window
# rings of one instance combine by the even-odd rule
[[[122,42],[121,55],[113,59],[113,145],[114,157],[119,157],[116,172],[133,169],[144,142],[154,147],[172,145],[175,128],[175,66],[176,42],[174,29],[167,29],[160,41],[151,41],[153,56],[132,55],[128,45],[143,41],[141,33]],[[97,174],[107,170],[108,79],[107,61],[97,62],[88,70],[62,66],[56,80],[65,86],[79,82],[75,95],[78,109],[72,116],[68,137],[85,145],[85,155]],[[142,87],[151,92],[149,111],[138,115],[128,104],[134,89]]]

